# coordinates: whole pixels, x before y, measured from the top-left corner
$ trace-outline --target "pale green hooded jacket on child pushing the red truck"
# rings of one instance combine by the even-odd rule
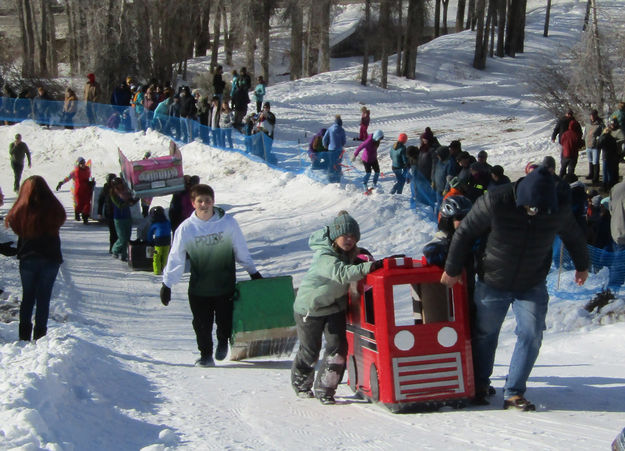
[[[334,250],[328,234],[328,227],[324,227],[308,240],[315,254],[293,304],[293,310],[300,315],[328,316],[345,311],[350,282],[371,271],[372,262],[352,264],[346,254]]]

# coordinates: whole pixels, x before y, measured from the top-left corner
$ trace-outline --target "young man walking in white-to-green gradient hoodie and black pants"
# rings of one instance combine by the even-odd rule
[[[213,320],[217,325],[215,359],[228,354],[232,335],[232,314],[236,267],[239,263],[252,279],[262,279],[256,270],[247,243],[236,219],[215,206],[213,189],[204,184],[190,190],[195,211],[185,219],[174,234],[169,259],[163,271],[161,302],[168,305],[171,287],[184,272],[186,256],[191,263],[189,304],[193,314],[193,330],[200,351],[196,365],[215,366],[213,360]]]

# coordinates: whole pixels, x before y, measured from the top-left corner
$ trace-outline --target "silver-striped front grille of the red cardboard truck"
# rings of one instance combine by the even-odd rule
[[[462,359],[459,352],[393,359],[395,397],[419,400],[463,393]]]

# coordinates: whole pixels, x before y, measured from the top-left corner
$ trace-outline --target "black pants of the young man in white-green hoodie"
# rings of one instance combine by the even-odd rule
[[[217,340],[228,341],[232,335],[232,311],[230,296],[195,296],[189,293],[189,305],[193,313],[193,330],[202,357],[213,355],[213,321],[217,324]]]

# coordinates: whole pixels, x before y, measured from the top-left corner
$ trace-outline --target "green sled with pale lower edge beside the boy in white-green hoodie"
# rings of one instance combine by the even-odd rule
[[[238,282],[230,360],[290,354],[297,342],[291,276]]]

